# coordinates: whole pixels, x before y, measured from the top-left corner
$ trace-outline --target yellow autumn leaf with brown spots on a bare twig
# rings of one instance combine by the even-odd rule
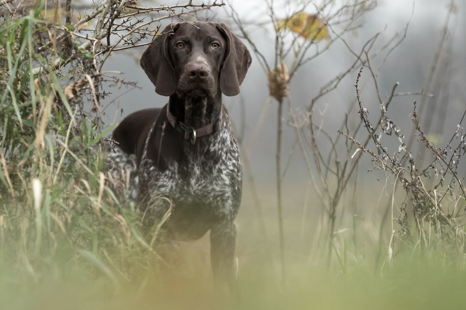
[[[325,20],[314,14],[296,13],[291,18],[280,20],[277,29],[288,28],[307,40],[320,41],[329,38]]]

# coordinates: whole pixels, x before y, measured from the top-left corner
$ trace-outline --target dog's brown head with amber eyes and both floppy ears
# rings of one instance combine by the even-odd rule
[[[225,24],[170,24],[145,50],[141,67],[163,96],[240,92],[251,54]]]

